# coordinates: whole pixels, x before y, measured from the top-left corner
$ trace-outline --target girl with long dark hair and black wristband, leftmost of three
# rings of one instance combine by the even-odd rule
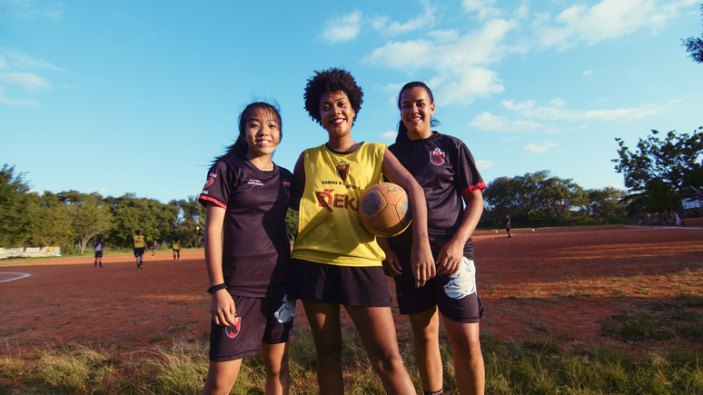
[[[272,162],[281,115],[252,103],[239,137],[208,173],[205,262],[212,294],[210,370],[203,394],[226,394],[242,359],[262,352],[266,394],[287,394],[294,302],[286,296],[291,244],[285,232],[292,173]]]

